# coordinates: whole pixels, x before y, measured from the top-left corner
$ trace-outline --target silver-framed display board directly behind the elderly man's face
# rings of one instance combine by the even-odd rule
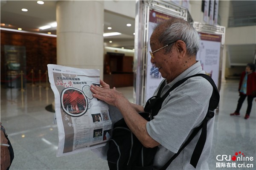
[[[186,8],[168,1],[137,1],[135,17],[134,102],[143,105],[163,79],[151,64],[149,39],[157,20],[180,17],[192,21]]]

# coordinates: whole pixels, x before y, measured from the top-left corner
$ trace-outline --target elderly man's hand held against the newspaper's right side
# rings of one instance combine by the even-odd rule
[[[102,81],[103,82],[103,81]],[[107,84],[106,84],[107,85]],[[119,91],[116,91],[116,88],[108,89],[104,88],[106,86],[102,85],[102,88],[99,86],[91,85],[90,90],[93,92],[93,97],[96,97],[97,99],[100,99],[109,105],[117,106],[117,102],[125,99],[122,93]]]

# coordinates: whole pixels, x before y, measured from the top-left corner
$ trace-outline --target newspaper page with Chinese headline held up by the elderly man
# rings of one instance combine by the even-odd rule
[[[112,127],[108,104],[94,98],[90,91],[91,85],[99,85],[99,70],[52,64],[47,67],[55,96],[57,156],[105,146]]]

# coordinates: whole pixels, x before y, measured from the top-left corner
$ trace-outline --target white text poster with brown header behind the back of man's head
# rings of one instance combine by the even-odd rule
[[[212,77],[218,87],[221,35],[200,33],[200,48],[196,59],[200,60],[203,70]]]

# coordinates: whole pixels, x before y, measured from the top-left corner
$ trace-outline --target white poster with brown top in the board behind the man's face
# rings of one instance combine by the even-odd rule
[[[148,37],[151,37],[153,28],[156,25],[157,21],[168,20],[172,16],[166,15],[154,10],[149,11],[149,23],[148,23]],[[145,101],[147,101],[151,96],[153,96],[154,91],[163,80],[161,73],[158,71],[158,68],[151,63],[151,51],[150,41],[148,41],[148,53],[147,53],[147,72],[146,72],[146,89],[145,89]]]

